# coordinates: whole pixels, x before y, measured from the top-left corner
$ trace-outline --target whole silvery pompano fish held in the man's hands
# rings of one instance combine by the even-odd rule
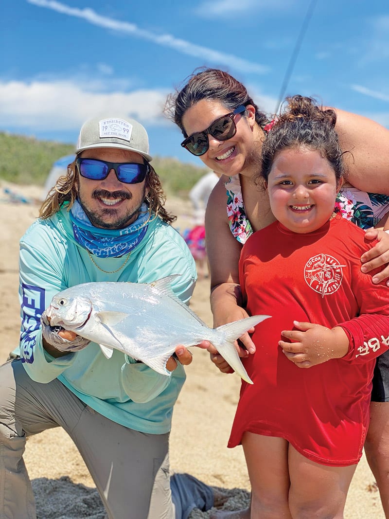
[[[173,293],[168,276],[152,283],[91,282],[72,286],[52,298],[47,317],[99,344],[105,357],[113,348],[163,375],[176,346],[209,340],[243,380],[253,384],[234,347],[234,340],[270,316],[253,316],[207,326]]]

